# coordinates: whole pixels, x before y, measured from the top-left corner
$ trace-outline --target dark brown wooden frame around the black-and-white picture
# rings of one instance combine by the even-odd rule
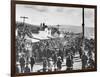
[[[41,72],[41,73],[19,73],[16,74],[16,4],[25,5],[44,5],[44,6],[60,6],[60,7],[75,7],[75,8],[92,8],[95,11],[94,14],[94,26],[95,26],[95,68],[94,69],[82,69],[71,71],[56,71],[56,72]],[[67,3],[50,3],[50,2],[33,2],[33,1],[15,1],[11,0],[11,77],[15,76],[29,76],[29,75],[44,75],[44,74],[61,74],[61,73],[80,73],[80,72],[92,72],[97,71],[97,6],[96,5],[83,5],[83,4],[67,4]]]

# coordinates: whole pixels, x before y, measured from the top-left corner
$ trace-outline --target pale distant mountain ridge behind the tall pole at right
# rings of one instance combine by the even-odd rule
[[[82,26],[62,25],[62,26],[60,26],[60,29],[63,31],[66,31],[66,32],[73,32],[73,33],[81,33],[82,32]],[[85,26],[84,33],[85,33],[86,37],[94,38],[94,34],[95,34],[94,32],[95,32],[95,30],[93,27]]]

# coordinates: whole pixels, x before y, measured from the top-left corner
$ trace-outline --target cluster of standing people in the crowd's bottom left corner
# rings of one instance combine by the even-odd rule
[[[21,70],[19,69],[19,67],[18,67],[18,65],[16,65],[16,72],[17,73],[29,73],[29,72],[31,72],[31,71],[33,71],[33,66],[34,66],[34,64],[35,64],[35,58],[34,58],[34,56],[31,56],[30,58],[30,61],[28,60],[26,60],[25,59],[25,57],[24,57],[24,55],[22,55],[21,56],[21,58],[19,59],[19,65],[20,65],[20,68],[21,68]],[[29,64],[30,64],[30,67],[29,67]]]

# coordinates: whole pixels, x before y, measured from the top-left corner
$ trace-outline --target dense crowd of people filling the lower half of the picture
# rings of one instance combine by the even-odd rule
[[[95,60],[93,59],[95,54],[95,47],[93,47],[94,40],[85,39],[84,50],[83,45],[81,45],[82,38],[79,36],[75,38],[74,35],[71,35],[69,40],[67,37],[63,38],[64,42],[67,41],[67,43],[69,43],[69,46],[67,44],[63,46],[61,43],[62,39],[39,41],[37,44],[31,44],[32,52],[29,54],[30,51],[25,49],[25,35],[26,34],[24,33],[24,35],[18,35],[16,37],[17,73],[33,72],[34,67],[37,64],[42,65],[42,69],[37,70],[37,72],[61,71],[63,66],[66,67],[66,70],[73,70],[73,59],[76,53],[79,53],[81,59],[81,69],[95,67]],[[56,47],[57,49],[53,47]],[[19,53],[21,53],[21,55],[19,55]],[[19,64],[17,64],[17,62]]]

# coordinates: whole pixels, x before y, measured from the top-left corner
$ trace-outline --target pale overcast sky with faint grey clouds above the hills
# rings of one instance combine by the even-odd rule
[[[22,21],[20,16],[28,17],[25,22],[34,25],[82,25],[81,8],[17,4],[16,21]],[[94,9],[85,8],[85,26],[94,26]]]

